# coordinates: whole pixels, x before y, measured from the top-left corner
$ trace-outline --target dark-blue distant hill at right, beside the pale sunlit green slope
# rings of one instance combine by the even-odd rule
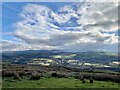
[[[95,62],[95,63],[109,63],[112,61],[118,61],[118,54],[112,52],[80,52],[78,53],[74,59],[78,59],[81,61],[87,62]]]

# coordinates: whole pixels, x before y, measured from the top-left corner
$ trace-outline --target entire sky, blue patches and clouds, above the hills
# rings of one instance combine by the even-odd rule
[[[4,2],[2,50],[118,50],[118,3]]]

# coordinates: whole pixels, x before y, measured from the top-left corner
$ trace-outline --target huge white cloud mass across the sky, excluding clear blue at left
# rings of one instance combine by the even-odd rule
[[[3,49],[117,50],[117,7],[116,3],[75,3],[54,12],[27,4],[13,34],[22,44],[7,41]]]

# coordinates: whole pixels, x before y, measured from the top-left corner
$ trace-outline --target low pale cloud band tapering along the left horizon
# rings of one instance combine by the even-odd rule
[[[23,51],[23,50],[38,50],[38,49],[46,49],[52,50],[52,47],[44,45],[36,45],[36,44],[27,44],[25,42],[13,42],[9,40],[2,40],[2,45],[0,45],[2,51]]]

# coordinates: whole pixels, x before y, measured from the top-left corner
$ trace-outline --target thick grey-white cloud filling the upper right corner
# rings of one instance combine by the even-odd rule
[[[81,17],[77,21],[83,27],[97,27],[103,32],[116,32],[118,30],[118,3],[94,3],[80,9]]]

